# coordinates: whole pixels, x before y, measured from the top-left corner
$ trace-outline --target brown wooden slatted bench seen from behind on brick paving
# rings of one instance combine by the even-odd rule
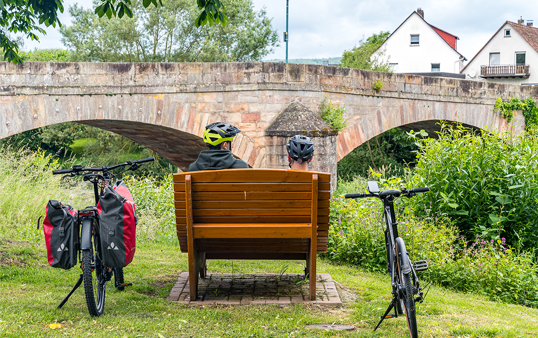
[[[190,299],[206,260],[306,260],[316,297],[316,253],[327,251],[330,174],[225,169],[174,174],[176,227],[188,253]]]

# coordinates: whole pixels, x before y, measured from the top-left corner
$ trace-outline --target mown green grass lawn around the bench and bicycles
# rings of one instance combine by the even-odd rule
[[[390,302],[390,279],[355,267],[318,262],[317,271],[339,284],[344,306],[204,306],[189,307],[166,300],[187,255],[179,247],[139,244],[133,263],[124,269],[132,287],[107,289],[105,312],[91,318],[83,289],[61,310],[56,306],[73,287],[79,268],[51,268],[44,244],[0,239],[1,337],[406,337],[404,317],[378,318]],[[231,272],[232,261],[209,261],[208,270]],[[302,272],[287,261],[233,261],[243,272]],[[59,322],[60,329],[47,324]],[[312,323],[356,327],[349,332],[304,328]],[[475,294],[432,287],[417,305],[420,337],[537,337],[538,309],[495,303]]]

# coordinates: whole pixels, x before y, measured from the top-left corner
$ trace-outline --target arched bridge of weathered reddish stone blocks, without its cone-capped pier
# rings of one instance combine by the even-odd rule
[[[233,154],[254,168],[281,168],[285,161],[268,160],[267,127],[291,103],[317,112],[327,98],[345,104],[348,127],[323,142],[332,163],[313,169],[330,165],[335,174],[337,160],[394,127],[443,119],[521,132],[521,114],[508,123],[493,111],[497,97],[536,100],[538,87],[268,62],[0,62],[0,139],[74,121],[126,136],[184,170],[206,149],[204,126],[222,120],[243,130]]]

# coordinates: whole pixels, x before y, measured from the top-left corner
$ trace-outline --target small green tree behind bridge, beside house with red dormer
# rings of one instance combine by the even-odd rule
[[[392,72],[390,63],[384,59],[385,50],[378,50],[390,34],[390,32],[379,32],[366,40],[363,37],[358,47],[344,52],[339,66]],[[374,54],[376,51],[377,53]]]

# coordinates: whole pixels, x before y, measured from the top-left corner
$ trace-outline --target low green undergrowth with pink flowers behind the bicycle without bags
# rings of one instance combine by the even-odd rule
[[[339,193],[365,191],[365,181],[359,177],[338,186],[331,199],[328,249],[322,256],[384,272],[383,206],[375,199],[337,197]],[[382,181],[381,189],[398,188],[403,182],[399,178]],[[510,249],[504,238],[466,241],[446,217],[417,218],[409,203],[413,199],[399,199],[395,206],[399,235],[410,258],[429,263],[428,270],[420,272],[423,282],[481,293],[493,300],[538,306],[538,264],[533,262],[531,252]]]

